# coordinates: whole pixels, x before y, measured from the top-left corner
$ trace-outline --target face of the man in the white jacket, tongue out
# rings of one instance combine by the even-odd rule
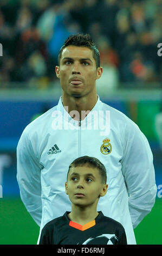
[[[93,92],[96,79],[102,75],[102,68],[96,69],[93,51],[73,45],[63,49],[60,66],[55,71],[64,94],[75,97]]]

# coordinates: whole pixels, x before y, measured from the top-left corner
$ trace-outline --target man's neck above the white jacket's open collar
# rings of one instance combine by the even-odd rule
[[[91,96],[91,97],[74,97],[74,96],[65,96],[62,94],[62,103],[63,106],[66,108],[68,106],[68,113],[71,115],[72,118],[75,120],[83,120],[86,115],[94,108],[96,102],[98,101],[98,96]],[[75,115],[75,111],[79,113]],[[70,113],[71,112],[71,113]]]

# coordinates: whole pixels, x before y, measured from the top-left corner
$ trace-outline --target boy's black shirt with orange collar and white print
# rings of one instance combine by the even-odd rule
[[[85,225],[70,221],[69,213],[44,225],[40,245],[127,245],[124,227],[101,211]]]

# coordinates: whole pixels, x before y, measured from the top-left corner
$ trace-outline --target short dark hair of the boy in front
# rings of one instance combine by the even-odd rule
[[[86,163],[88,163],[89,166],[93,166],[93,167],[99,169],[99,173],[101,175],[101,182],[103,184],[106,184],[107,174],[106,174],[105,166],[98,159],[96,159],[95,157],[90,157],[90,156],[78,157],[72,163],[70,163],[68,173],[67,173],[67,180],[68,180],[68,174],[69,174],[70,168],[77,167],[77,166],[84,166]]]

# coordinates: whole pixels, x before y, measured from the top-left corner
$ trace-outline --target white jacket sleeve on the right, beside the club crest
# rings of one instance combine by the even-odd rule
[[[121,161],[122,173],[129,194],[129,212],[135,228],[153,208],[157,186],[150,145],[132,121],[126,129],[125,138],[125,153]]]

